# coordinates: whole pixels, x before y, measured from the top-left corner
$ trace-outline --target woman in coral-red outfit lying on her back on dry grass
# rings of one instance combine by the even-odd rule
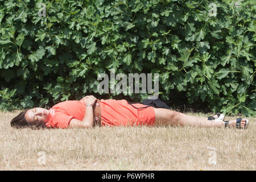
[[[138,109],[139,108],[139,109]],[[209,118],[193,117],[143,104],[129,104],[126,100],[97,100],[86,96],[80,101],[64,101],[51,109],[36,107],[24,110],[11,120],[13,127],[49,128],[90,128],[98,126],[196,126],[196,127],[237,127],[246,129],[248,119],[234,119],[223,122],[215,115]],[[214,119],[216,118],[216,119]]]

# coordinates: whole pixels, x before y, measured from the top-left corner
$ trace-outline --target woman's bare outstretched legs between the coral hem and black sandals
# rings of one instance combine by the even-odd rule
[[[225,127],[224,122],[209,121],[207,118],[194,117],[173,111],[170,109],[155,108],[155,126],[196,126],[196,127]],[[231,126],[236,126],[236,120],[229,121]],[[245,126],[245,119],[241,121],[241,127]]]

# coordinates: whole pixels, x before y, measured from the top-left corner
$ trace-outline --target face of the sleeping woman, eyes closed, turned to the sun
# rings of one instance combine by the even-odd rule
[[[26,112],[25,118],[30,125],[36,125],[37,123],[47,123],[51,117],[50,111],[41,107],[30,109]]]

